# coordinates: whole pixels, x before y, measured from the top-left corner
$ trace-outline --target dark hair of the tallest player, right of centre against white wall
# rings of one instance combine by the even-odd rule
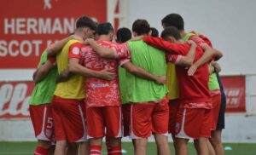
[[[180,14],[168,14],[162,20],[162,25],[175,26],[179,31],[184,30],[183,17]]]

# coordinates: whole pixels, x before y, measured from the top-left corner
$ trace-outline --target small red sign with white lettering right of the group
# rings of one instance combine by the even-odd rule
[[[221,77],[227,100],[226,112],[246,112],[245,79],[245,76]]]

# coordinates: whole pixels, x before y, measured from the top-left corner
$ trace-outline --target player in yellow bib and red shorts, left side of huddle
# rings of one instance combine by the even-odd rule
[[[96,31],[96,25],[89,17],[83,16],[77,20],[75,35],[83,39],[92,37]],[[76,61],[68,60],[70,53],[79,52],[79,41],[70,40],[57,53],[51,50],[49,55],[56,55],[58,72],[61,73],[67,66],[72,66]],[[53,47],[54,49],[55,47]],[[92,71],[82,68],[84,76],[104,77],[105,71]],[[84,77],[73,75],[62,83],[57,83],[53,99],[53,118],[55,122],[56,148],[55,154],[65,154],[68,143],[68,153],[77,154],[78,144],[87,141],[85,129],[84,110]]]

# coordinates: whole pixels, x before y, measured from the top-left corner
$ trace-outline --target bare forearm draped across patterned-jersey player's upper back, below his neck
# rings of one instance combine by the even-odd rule
[[[116,59],[116,51],[114,48],[105,48],[98,43],[96,43],[95,40],[92,38],[87,38],[84,41],[84,44],[90,44],[90,47],[96,51],[96,54],[101,56],[102,58],[108,58],[108,59]]]

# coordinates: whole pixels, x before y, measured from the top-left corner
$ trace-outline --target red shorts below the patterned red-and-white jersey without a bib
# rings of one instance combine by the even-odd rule
[[[105,136],[122,137],[122,116],[119,106],[98,106],[86,108],[88,139]]]

